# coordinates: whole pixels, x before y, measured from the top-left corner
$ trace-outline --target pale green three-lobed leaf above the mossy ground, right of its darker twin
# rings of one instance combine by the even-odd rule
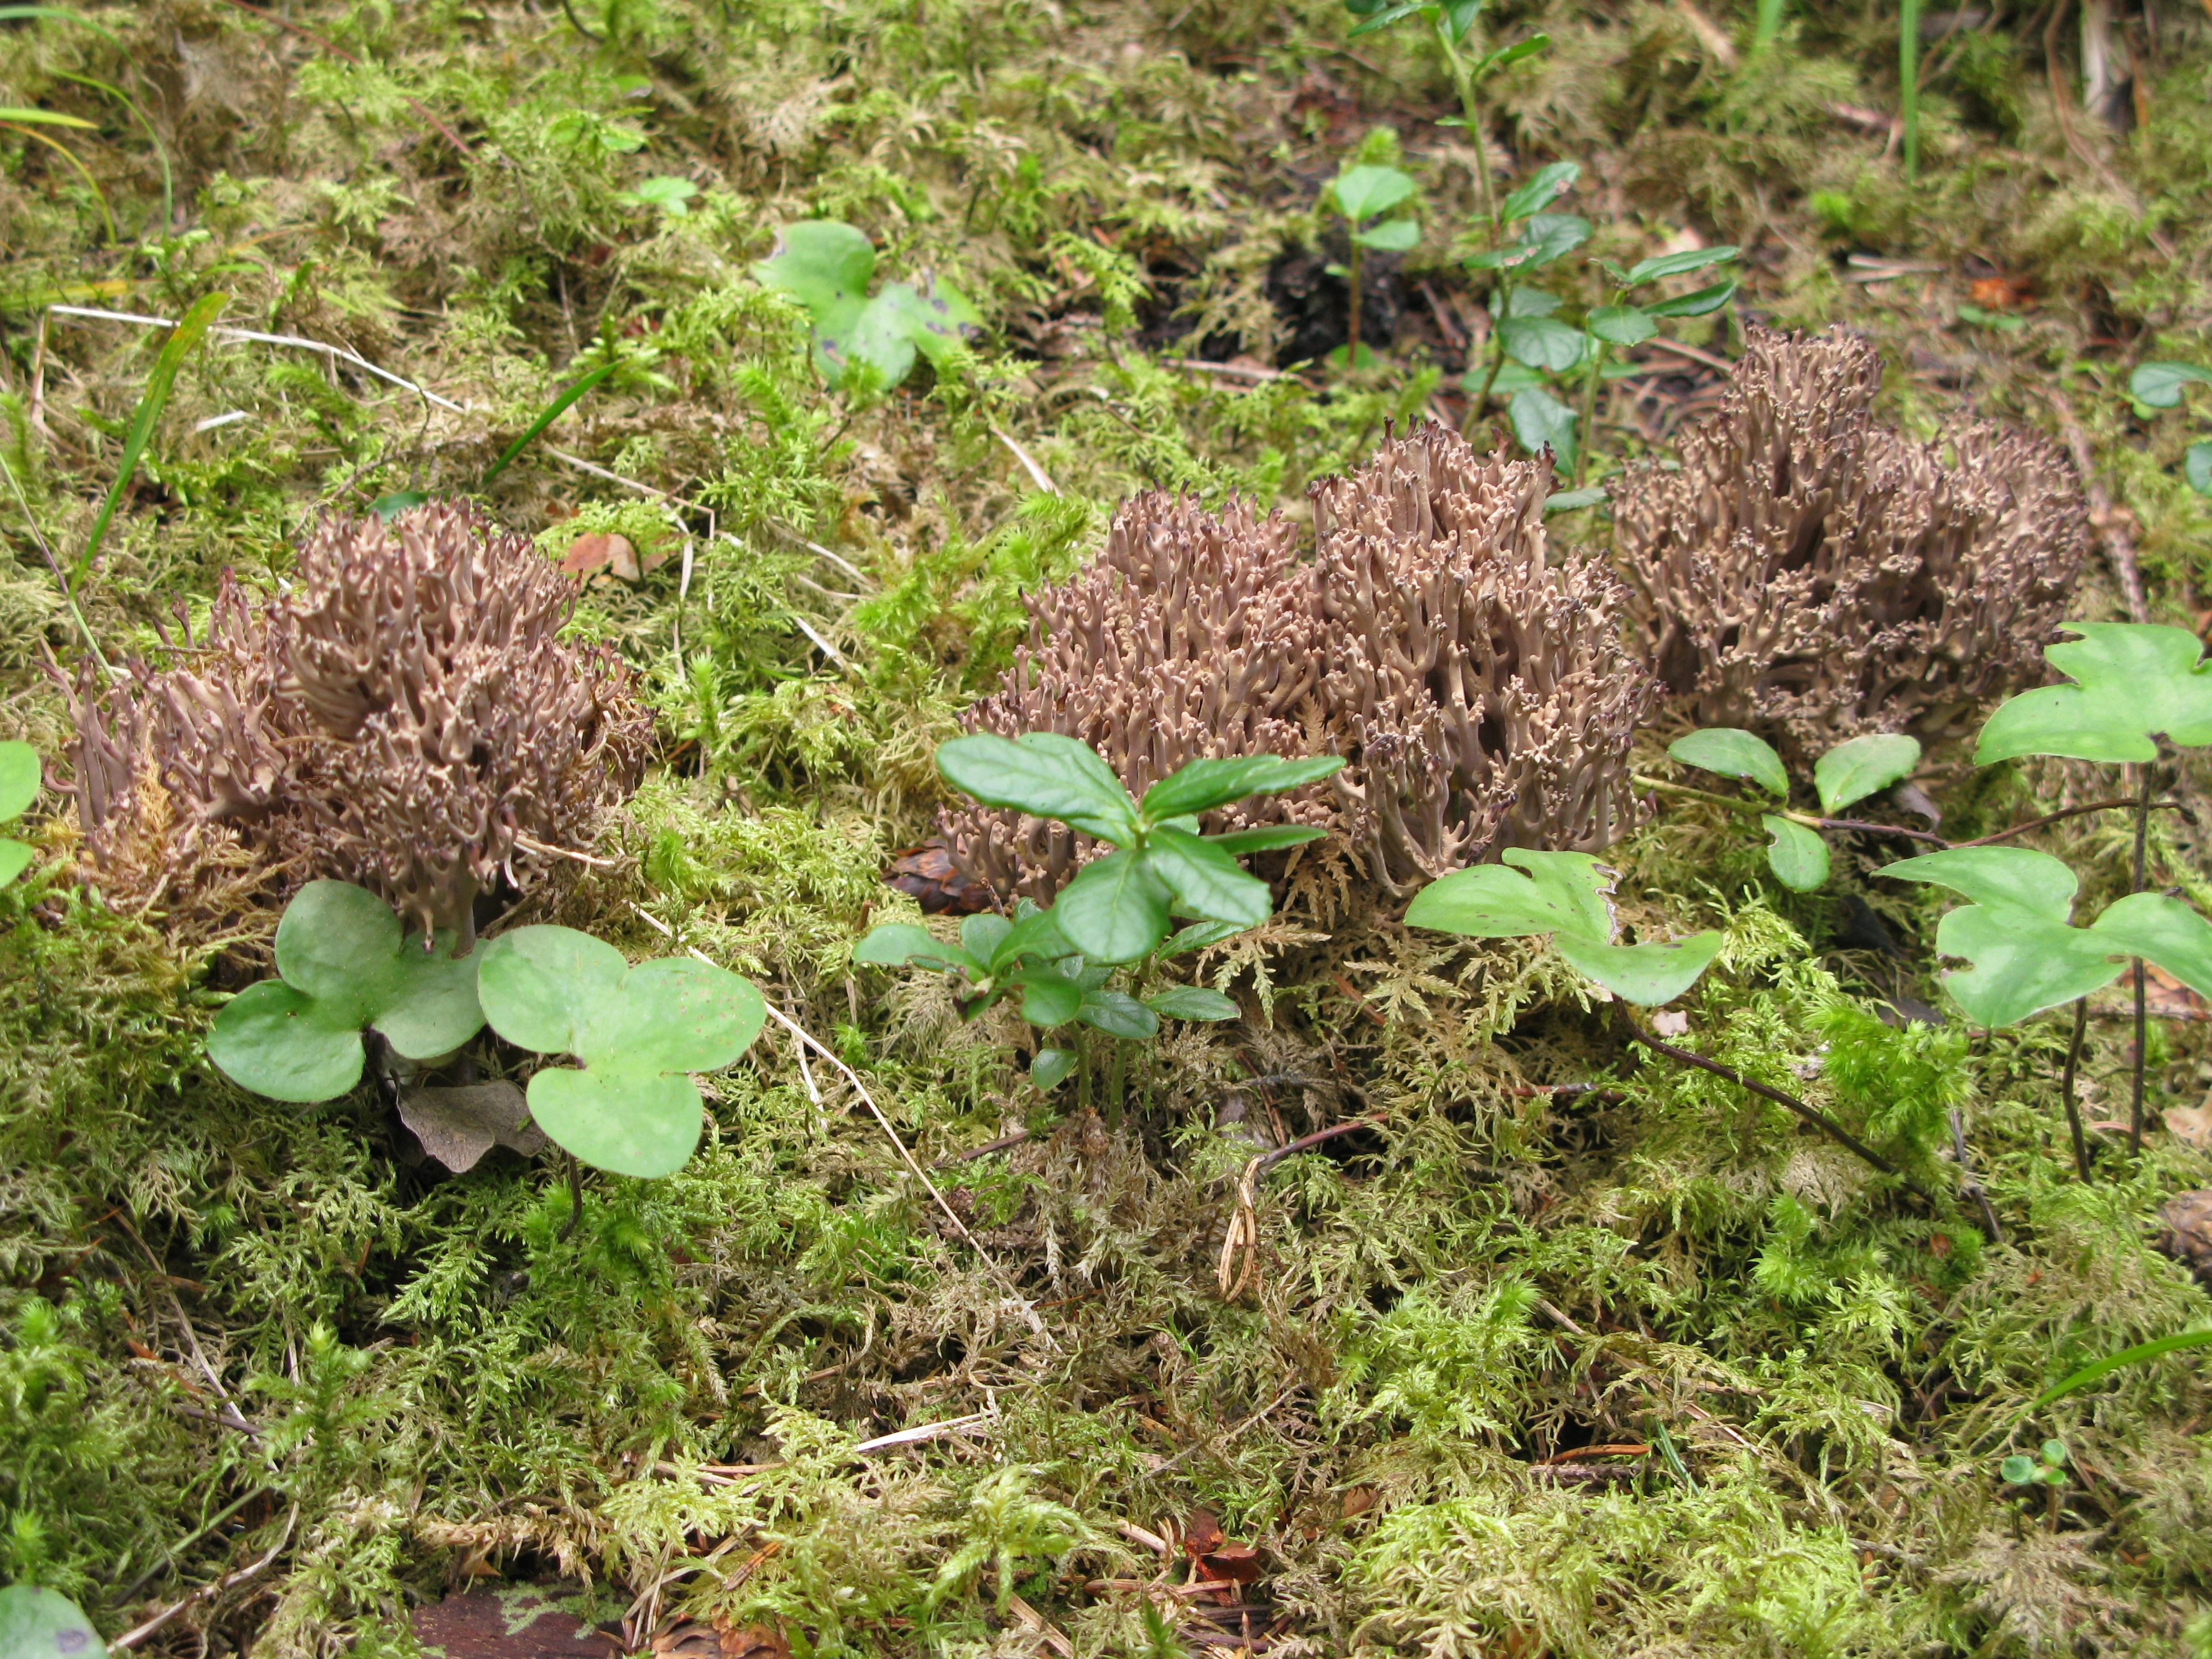
[[[761,993],[728,969],[688,956],[630,967],[571,927],[518,927],[480,956],[491,1029],[582,1062],[531,1077],[538,1128],[613,1175],[684,1168],[699,1146],[699,1086],[686,1073],[728,1066],[768,1020]]]

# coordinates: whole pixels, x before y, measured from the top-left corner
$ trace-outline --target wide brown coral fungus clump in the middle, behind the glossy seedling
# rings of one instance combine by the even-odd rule
[[[1478,458],[1444,427],[1314,487],[1318,555],[1281,518],[1139,495],[969,730],[1062,732],[1133,794],[1219,754],[1343,754],[1329,785],[1219,827],[1316,823],[1394,898],[1500,847],[1595,852],[1632,818],[1628,737],[1650,679],[1617,644],[1619,588],[1546,557],[1546,462]],[[1000,894],[1048,898],[1088,841],[1013,812],[945,821]]]

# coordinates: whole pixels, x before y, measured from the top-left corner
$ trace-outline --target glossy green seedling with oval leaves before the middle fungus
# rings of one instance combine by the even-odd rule
[[[1285,761],[1245,754],[1192,761],[1133,801],[1086,743],[1055,732],[1004,739],[956,737],[938,748],[938,772],[984,805],[1013,807],[1097,836],[1115,852],[1086,863],[1051,909],[1029,900],[1004,916],[969,916],[949,945],[911,922],[869,929],[854,960],[925,967],[960,980],[960,1015],[973,1020],[1020,995],[1022,1018],[1053,1031],[1088,1024],[1144,1042],[1172,1020],[1232,1020],[1237,1004],[1206,987],[1170,984],[1144,1000],[1108,989],[1117,967],[1157,964],[1259,927],[1274,911],[1267,883],[1237,858],[1318,841],[1310,825],[1199,834],[1199,816],[1254,794],[1281,794],[1343,768],[1343,759]],[[1175,929],[1175,918],[1188,927]],[[1172,931],[1172,938],[1170,938]],[[1073,1048],[1044,1046],[1029,1079],[1053,1088],[1075,1068]]]

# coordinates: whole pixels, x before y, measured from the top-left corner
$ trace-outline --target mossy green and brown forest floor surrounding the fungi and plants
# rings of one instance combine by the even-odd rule
[[[949,1206],[774,1031],[710,1079],[699,1157],[586,1179],[575,1232],[553,1161],[445,1177],[376,1091],[250,1097],[204,1040],[272,902],[108,907],[46,794],[40,858],[0,889],[0,1577],[108,1637],[166,1613],[139,1650],[199,1657],[409,1652],[414,1613],[480,1579],[557,1579],[637,1646],[726,1659],[2212,1655],[2201,1360],[2028,1411],[2212,1321],[2157,1248],[2161,1206],[2212,1186],[2201,1000],[2161,991],[2139,1155],[2115,1128],[2126,998],[2095,1002],[2081,1183],[2064,1013],[1849,1013],[1942,1002],[1942,902],[1871,889],[1887,849],[1792,894],[1692,807],[1610,854],[1648,925],[1728,933],[1683,1040],[1785,1082],[1849,1051],[1960,1106],[1989,1237],[1630,1053],[1533,945],[1276,938],[1217,964],[1243,1022],[1079,1097],[1031,1091],[933,984],[854,964],[872,920],[914,918],[883,874],[947,801],[933,745],[1011,661],[1022,591],[1091,557],[1119,500],[1310,515],[1305,487],[1385,429],[1467,418],[1475,153],[1418,29],[1352,22],[1325,0],[0,11],[0,737],[66,776],[46,655],[157,650],[223,568],[283,582],[323,513],[473,493],[549,557],[619,535],[635,580],[584,571],[575,633],[635,668],[657,750],[562,918],[752,975]],[[1710,0],[1484,15],[1493,44],[1548,35],[1486,84],[1500,188],[1577,161],[1562,206],[1593,254],[1743,250],[1730,307],[1621,352],[1590,473],[1666,456],[1747,323],[1843,323],[1887,361],[1887,420],[2004,420],[2088,469],[2070,617],[2201,626],[2212,498],[2183,447],[2212,422],[2128,378],[2212,363],[2212,20],[2119,18],[2126,84],[2097,108],[2064,0],[1922,24],[1909,175],[1887,11],[1790,9],[1759,53]],[[1358,369],[1327,356],[1345,241],[1321,208],[1349,157],[1405,168],[1422,228],[1369,261]],[[971,349],[827,387],[752,274],[801,219],[863,228],[885,276],[953,281]],[[55,566],[161,343],[131,319],[210,292],[281,338],[186,358],[80,626]],[[1498,411],[1473,425],[1511,445]],[[1604,544],[1608,520],[1553,531]],[[2090,776],[1969,772],[1931,754],[1947,834]],[[2212,774],[2177,779],[2212,810]],[[2090,814],[2037,845],[2104,900],[2128,836]],[[2203,854],[2161,816],[2152,885],[2203,905]],[[1232,1223],[1254,1243],[1223,1294]],[[927,1433],[867,1447],[900,1429]],[[2046,1438],[2070,1458],[2048,1511],[1997,1473]],[[1230,1588],[1186,1586],[1208,1575]]]

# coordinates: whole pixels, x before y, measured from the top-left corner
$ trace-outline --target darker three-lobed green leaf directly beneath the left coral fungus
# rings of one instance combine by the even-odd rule
[[[434,949],[403,938],[376,894],[312,880],[276,922],[276,975],[246,987],[215,1018],[208,1057],[243,1088],[272,1099],[336,1099],[361,1082],[363,1026],[394,1053],[436,1060],[484,1024],[476,1004],[480,953],[453,960],[453,936]]]

